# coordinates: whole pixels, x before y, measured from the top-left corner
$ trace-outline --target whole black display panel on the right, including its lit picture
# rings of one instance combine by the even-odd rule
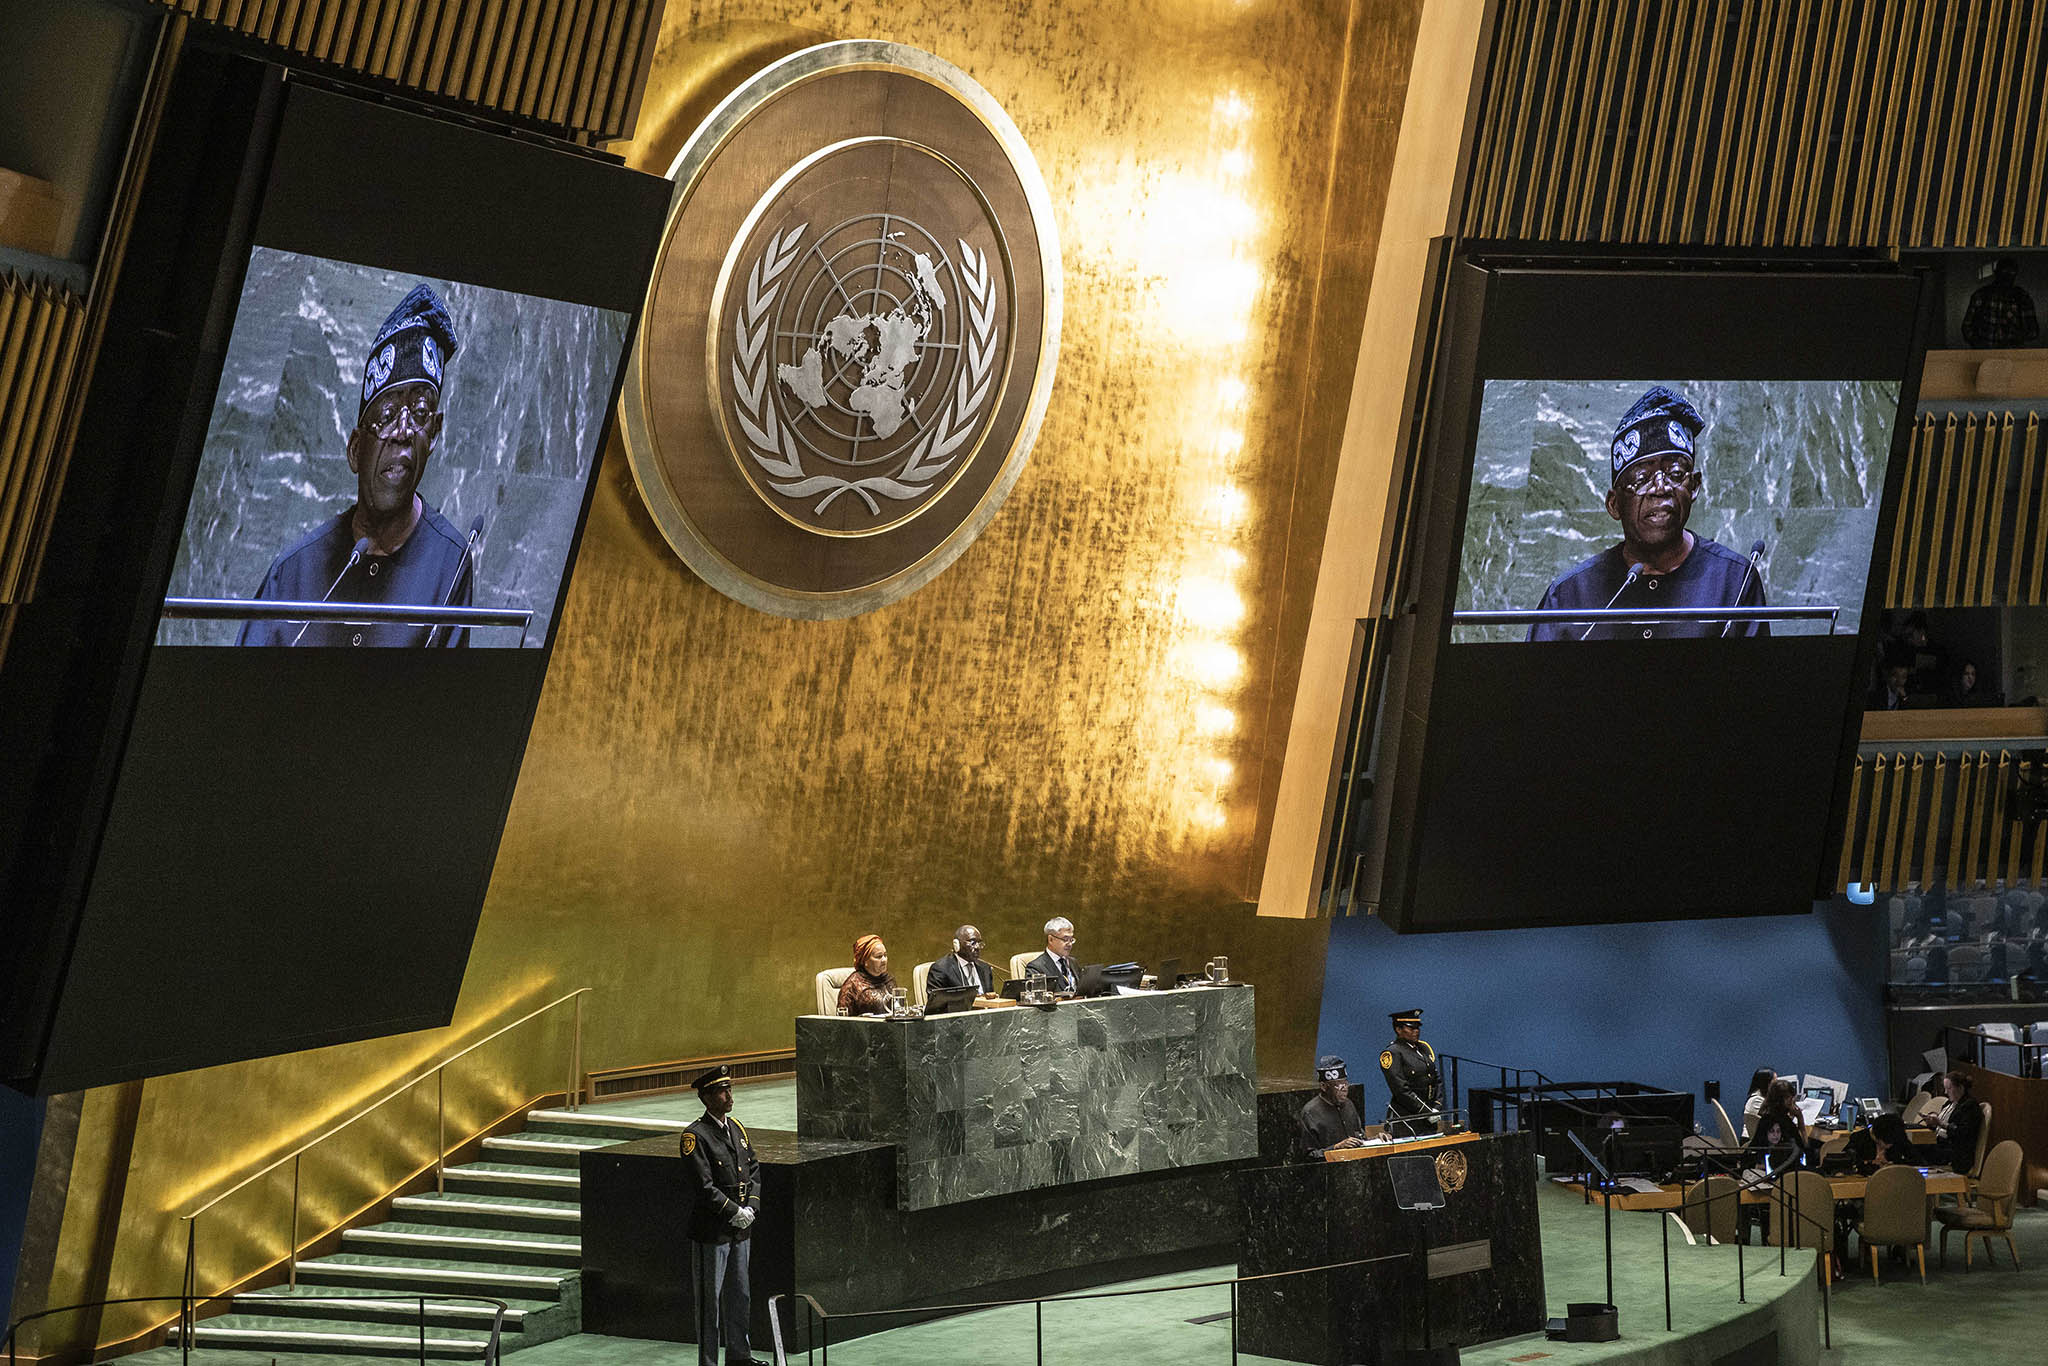
[[[1397,930],[1831,889],[1927,289],[1888,262],[1444,262],[1354,901]]]

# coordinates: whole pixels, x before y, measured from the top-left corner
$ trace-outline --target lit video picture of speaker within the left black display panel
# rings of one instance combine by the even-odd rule
[[[156,643],[541,649],[629,322],[258,246]]]

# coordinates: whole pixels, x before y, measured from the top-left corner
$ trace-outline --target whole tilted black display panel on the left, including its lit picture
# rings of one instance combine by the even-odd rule
[[[449,1022],[670,199],[207,43],[162,129],[20,637],[129,664],[0,782],[41,1092]]]

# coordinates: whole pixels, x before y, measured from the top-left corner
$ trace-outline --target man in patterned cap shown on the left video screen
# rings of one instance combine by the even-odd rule
[[[455,360],[455,319],[426,285],[391,309],[362,362],[362,397],[348,434],[356,502],[289,545],[256,598],[469,606],[475,551],[430,502],[420,475],[440,438],[442,377]],[[342,621],[248,621],[238,645],[459,647],[461,627]]]

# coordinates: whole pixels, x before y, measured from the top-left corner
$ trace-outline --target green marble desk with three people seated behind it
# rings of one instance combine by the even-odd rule
[[[897,1208],[1257,1153],[1251,987],[797,1018],[797,1135],[891,1143]]]

